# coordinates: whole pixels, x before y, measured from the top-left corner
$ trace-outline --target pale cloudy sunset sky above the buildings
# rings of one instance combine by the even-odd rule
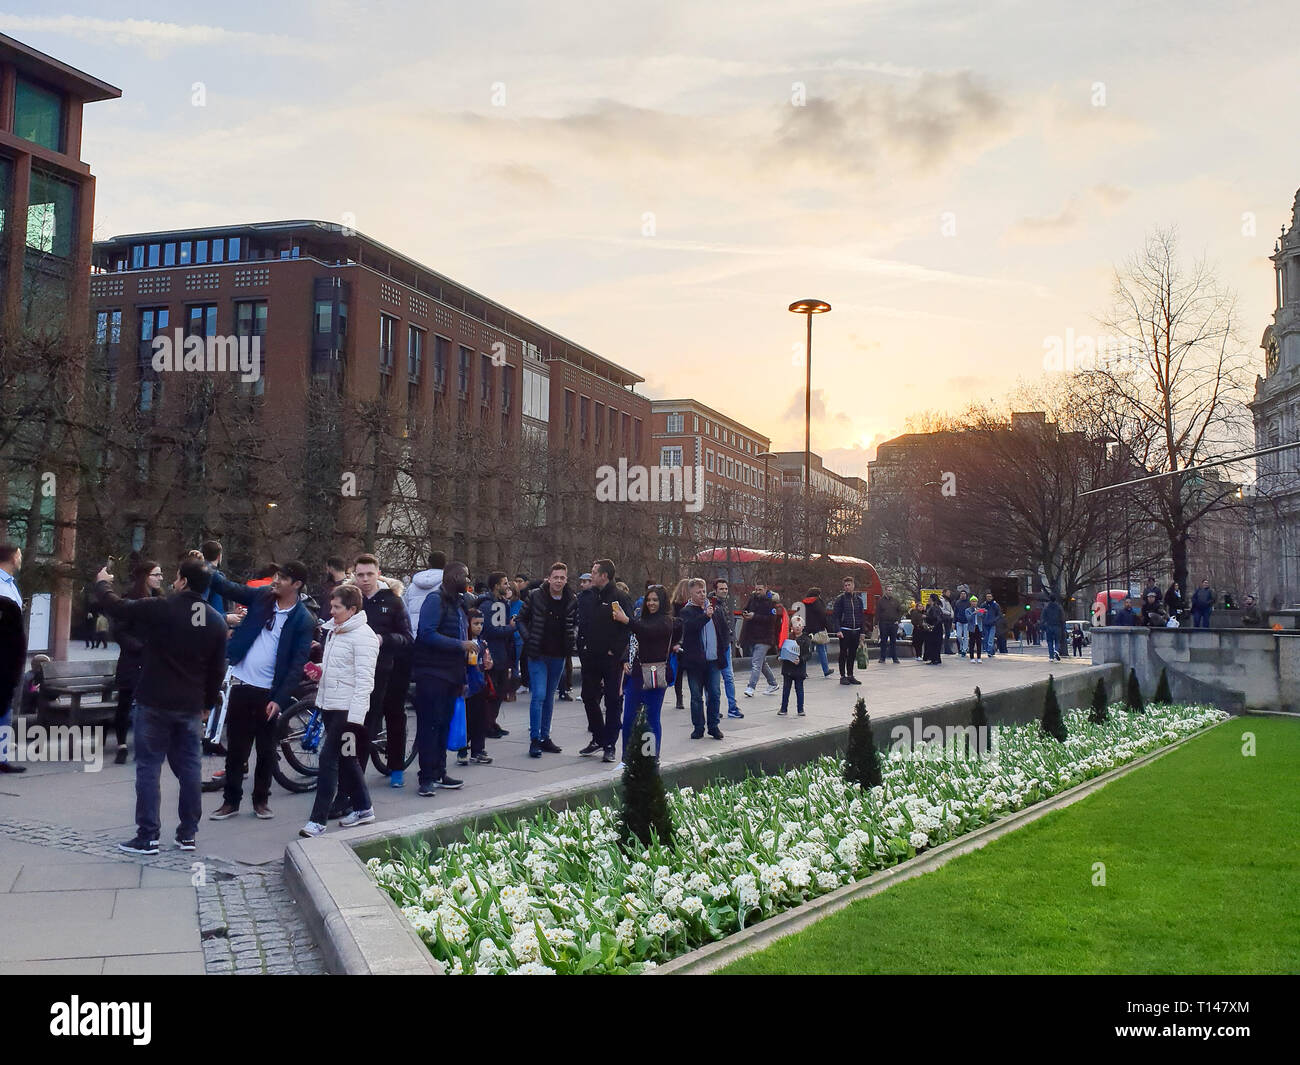
[[[122,88],[87,109],[96,239],[344,221],[864,476],[909,416],[1100,335],[1174,225],[1270,321],[1300,187],[1294,8],[1095,0],[0,0]]]

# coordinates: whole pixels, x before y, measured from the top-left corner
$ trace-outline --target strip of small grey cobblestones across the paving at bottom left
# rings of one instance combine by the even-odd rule
[[[209,974],[322,974],[325,961],[280,865],[242,866],[183,850],[133,858],[117,837],[30,818],[6,818],[0,834],[52,850],[188,873],[195,886],[204,967]]]

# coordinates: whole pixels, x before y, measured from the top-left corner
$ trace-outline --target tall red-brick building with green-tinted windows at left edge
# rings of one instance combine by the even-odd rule
[[[78,463],[61,425],[81,411],[84,351],[69,330],[86,321],[95,178],[81,157],[86,104],[114,100],[120,88],[0,34],[0,343],[10,364],[6,399],[27,411],[0,455],[0,538],[27,549],[27,562],[55,573],[51,648],[66,655],[77,551]],[[58,364],[42,358],[55,338]],[[27,350],[23,350],[23,346]],[[55,397],[49,380],[62,382]],[[25,389],[32,397],[25,397]],[[35,402],[29,402],[34,399]],[[58,490],[42,493],[38,472]],[[49,563],[55,563],[49,566]],[[34,590],[32,581],[25,584]],[[42,589],[44,590],[44,589]]]

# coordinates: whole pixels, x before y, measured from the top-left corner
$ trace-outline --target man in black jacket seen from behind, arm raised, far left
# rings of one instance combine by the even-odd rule
[[[165,758],[181,784],[176,845],[194,850],[203,815],[199,761],[203,711],[217,701],[226,674],[226,620],[203,599],[208,567],[187,558],[166,598],[126,601],[113,594],[107,568],[95,577],[99,609],[131,625],[144,645],[135,684],[135,839],[127,854],[157,854],[160,778]]]

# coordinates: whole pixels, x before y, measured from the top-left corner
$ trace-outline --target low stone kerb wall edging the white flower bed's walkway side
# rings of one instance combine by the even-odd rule
[[[1062,709],[1088,706],[1097,680],[1105,679],[1112,701],[1122,696],[1124,672],[1119,666],[1070,670],[1056,679]],[[1043,715],[1045,680],[1008,688],[983,700],[991,724],[1017,724]],[[974,697],[920,706],[911,711],[872,717],[876,744],[888,749],[890,732],[900,724],[922,727],[970,724]],[[836,723],[794,739],[779,739],[750,746],[706,748],[706,754],[663,769],[668,787],[702,787],[715,780],[740,780],[746,775],[770,775],[802,765],[823,754],[842,752],[849,722]],[[918,737],[919,739],[919,737]],[[412,974],[441,971],[415,930],[367,874],[363,862],[389,857],[402,841],[425,840],[445,844],[464,839],[465,831],[490,830],[500,819],[512,824],[543,809],[563,810],[615,797],[618,778],[602,775],[575,784],[562,783],[543,791],[484,800],[445,814],[413,814],[398,821],[355,828],[315,840],[295,840],[285,850],[285,878],[302,906],[316,941],[333,973]]]

